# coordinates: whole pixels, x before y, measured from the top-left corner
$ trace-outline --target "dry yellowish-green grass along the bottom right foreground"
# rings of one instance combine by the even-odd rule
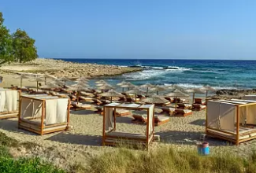
[[[232,153],[199,156],[193,151],[180,152],[169,147],[150,152],[117,149],[117,152],[93,158],[87,172],[253,173],[256,172],[256,153],[252,152],[247,158],[242,158]]]

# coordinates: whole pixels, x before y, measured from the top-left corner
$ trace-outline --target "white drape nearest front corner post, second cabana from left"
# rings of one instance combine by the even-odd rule
[[[57,122],[57,100],[46,100],[46,125]]]

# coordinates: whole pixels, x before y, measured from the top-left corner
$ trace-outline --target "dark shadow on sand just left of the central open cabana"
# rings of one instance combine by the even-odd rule
[[[95,136],[89,134],[70,134],[68,132],[61,132],[50,138],[46,138],[46,140],[54,142],[71,143],[77,145],[102,145],[102,136]]]

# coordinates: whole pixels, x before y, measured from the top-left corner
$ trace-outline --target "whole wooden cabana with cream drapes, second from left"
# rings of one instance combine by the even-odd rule
[[[69,98],[21,96],[18,126],[41,135],[65,131],[69,126],[69,105]]]

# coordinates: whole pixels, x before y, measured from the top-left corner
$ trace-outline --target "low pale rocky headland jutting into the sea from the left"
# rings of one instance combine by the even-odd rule
[[[50,73],[58,77],[82,77],[89,78],[109,75],[121,75],[128,72],[142,71],[142,68],[120,67],[116,65],[73,63],[54,59],[38,58],[27,63],[6,64],[0,68],[2,72],[33,72]]]

